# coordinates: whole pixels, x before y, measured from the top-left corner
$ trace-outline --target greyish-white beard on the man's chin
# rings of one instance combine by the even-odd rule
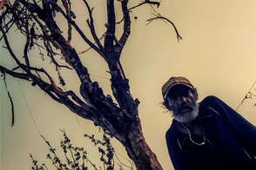
[[[191,112],[186,112],[184,114],[173,114],[173,119],[179,122],[187,123],[195,120],[199,116],[199,104],[193,108]]]

